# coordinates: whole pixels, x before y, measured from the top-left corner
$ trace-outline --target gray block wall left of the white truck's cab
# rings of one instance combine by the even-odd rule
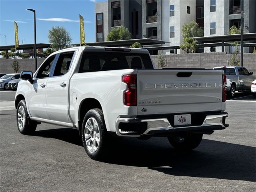
[[[38,58],[37,59],[37,67],[39,67],[42,62],[46,58]],[[0,58],[0,73],[14,73],[14,70],[12,69],[12,63],[13,59],[6,59],[6,58]],[[35,72],[35,60],[34,59],[18,59],[20,70],[19,73],[22,71],[32,71]]]

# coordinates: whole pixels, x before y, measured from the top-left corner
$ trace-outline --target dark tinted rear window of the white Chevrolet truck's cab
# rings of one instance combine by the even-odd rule
[[[153,69],[153,65],[148,54],[84,52],[79,73],[121,69]]]

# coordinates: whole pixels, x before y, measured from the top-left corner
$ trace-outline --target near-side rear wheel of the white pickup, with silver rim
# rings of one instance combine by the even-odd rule
[[[82,142],[88,156],[93,160],[104,158],[107,150],[108,135],[103,112],[91,109],[84,116]]]

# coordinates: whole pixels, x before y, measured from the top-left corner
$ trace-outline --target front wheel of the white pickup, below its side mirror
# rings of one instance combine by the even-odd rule
[[[32,121],[29,124],[28,110],[26,107],[25,100],[21,100],[18,104],[17,112],[16,112],[16,120],[17,120],[18,130],[20,131],[21,134],[30,135],[35,132],[37,124],[32,123]]]

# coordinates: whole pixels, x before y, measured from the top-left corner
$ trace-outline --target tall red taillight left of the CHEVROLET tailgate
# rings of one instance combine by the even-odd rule
[[[137,76],[136,75],[124,75],[122,82],[127,84],[127,88],[124,91],[124,104],[128,106],[137,106]]]

